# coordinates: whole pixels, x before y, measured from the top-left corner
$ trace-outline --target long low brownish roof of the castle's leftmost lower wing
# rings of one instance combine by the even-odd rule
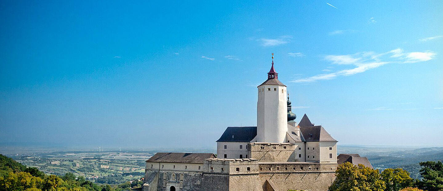
[[[203,160],[212,158],[216,158],[212,153],[157,152],[146,162],[203,163]]]

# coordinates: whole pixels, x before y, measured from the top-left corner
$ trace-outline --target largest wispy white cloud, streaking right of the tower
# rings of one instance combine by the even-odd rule
[[[385,53],[377,54],[375,52],[359,52],[354,55],[326,55],[324,59],[332,64],[350,65],[354,68],[343,69],[333,73],[318,74],[315,76],[296,79],[291,82],[316,82],[319,80],[330,80],[339,76],[350,76],[363,73],[369,69],[377,68],[389,63],[414,63],[431,60],[435,53],[426,52],[404,52],[403,49],[395,49]],[[328,72],[327,70],[323,70]]]

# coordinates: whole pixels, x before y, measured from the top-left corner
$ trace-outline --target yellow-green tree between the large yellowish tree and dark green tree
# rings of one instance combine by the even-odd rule
[[[411,187],[414,179],[409,177],[409,172],[401,168],[387,168],[381,172],[381,179],[385,182],[385,191],[399,191],[402,188]]]

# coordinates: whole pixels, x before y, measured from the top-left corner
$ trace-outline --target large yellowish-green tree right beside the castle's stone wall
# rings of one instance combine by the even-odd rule
[[[377,170],[362,164],[340,164],[335,171],[336,179],[330,191],[383,191],[385,183]]]

